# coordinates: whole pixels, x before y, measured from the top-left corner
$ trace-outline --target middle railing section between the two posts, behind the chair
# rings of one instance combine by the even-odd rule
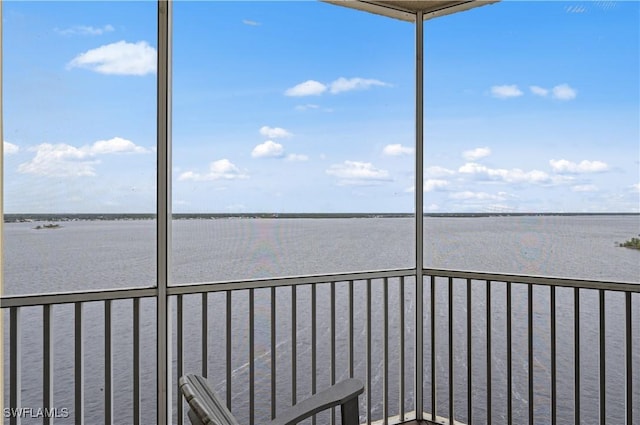
[[[411,392],[408,386],[412,382],[405,379],[405,372],[412,370],[407,367],[405,358],[408,353],[405,328],[411,323],[405,315],[405,297],[415,293],[414,273],[410,269],[390,270],[173,287],[172,296],[175,297],[177,314],[176,376],[186,371],[184,330],[192,329],[192,326],[184,324],[185,298],[194,293],[202,294],[189,309],[191,312],[201,312],[200,318],[192,320],[192,324],[198,326],[198,331],[202,334],[201,346],[192,347],[200,351],[199,359],[192,362],[192,368],[213,377],[214,382],[223,383],[219,386],[219,391],[226,395],[228,405],[246,423],[253,425],[275,417],[280,407],[295,404],[305,396],[321,390],[321,381],[324,385],[331,385],[336,382],[337,377],[344,379],[354,376],[362,379],[369,389],[361,399],[363,422],[371,423],[375,419],[391,416],[396,416],[400,421],[405,420],[408,418],[407,412],[415,410],[410,409],[406,397]],[[207,294],[211,293],[223,297],[220,305],[224,307],[224,314],[220,314],[218,320],[209,317],[210,301]],[[242,302],[234,304],[234,296],[244,297],[246,308],[235,307]],[[322,301],[319,301],[320,298]],[[396,332],[393,339],[389,334],[390,300],[393,300],[395,311],[393,323],[396,325]],[[261,310],[256,308],[258,302],[263,304],[262,310],[268,310],[268,314],[262,318],[268,322],[268,341],[261,353],[256,352],[256,311]],[[194,308],[197,304],[199,308]],[[319,312],[323,307],[324,312]],[[245,317],[246,321],[238,324],[238,320],[235,320],[234,323],[237,316]],[[379,319],[376,321],[379,326],[377,332],[372,329],[373,316]],[[362,318],[364,320],[358,320]],[[213,338],[225,341],[225,352],[222,356],[214,356],[213,364],[207,362],[207,323],[218,324]],[[234,344],[235,333],[242,334],[246,344]],[[324,335],[324,344],[319,342],[319,333]],[[373,345],[376,333],[379,346]],[[397,350],[394,358],[389,355],[391,344]],[[300,352],[300,346],[306,347],[304,354]],[[238,370],[232,364],[233,359],[238,356],[246,357],[246,368],[243,370]],[[287,364],[278,368],[282,358],[286,359]],[[319,365],[320,359],[326,360],[324,363],[327,368],[323,369]],[[264,375],[257,376],[257,363],[263,365],[261,369],[265,371],[267,379],[264,379]],[[397,369],[395,378],[389,376],[391,364]],[[374,369],[379,369],[377,374],[374,374]],[[234,374],[234,371],[239,373]],[[243,372],[248,388],[237,383],[243,381]],[[279,380],[279,375],[285,375],[284,379]],[[372,390],[374,375],[380,381],[377,391]],[[395,395],[390,390],[392,382],[397,390]],[[242,388],[235,391],[234,388],[238,385],[242,385]],[[262,408],[256,406],[258,392],[269,394],[269,402],[263,403]],[[244,394],[244,398],[238,394]],[[286,394],[286,397],[279,399],[278,394]],[[390,404],[393,404],[393,411]],[[376,410],[379,412],[375,413]],[[178,424],[183,423],[183,413],[182,403],[178,402]],[[331,423],[335,421],[333,413],[328,419]],[[315,423],[315,419],[312,422]]]

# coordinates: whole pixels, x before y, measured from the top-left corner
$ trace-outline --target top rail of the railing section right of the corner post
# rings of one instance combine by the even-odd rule
[[[451,277],[458,279],[487,280],[495,282],[530,283],[534,285],[560,286],[580,289],[605,289],[608,291],[640,293],[638,282],[616,282],[551,276],[520,275],[492,272],[474,272],[449,269],[424,269],[426,276]]]

